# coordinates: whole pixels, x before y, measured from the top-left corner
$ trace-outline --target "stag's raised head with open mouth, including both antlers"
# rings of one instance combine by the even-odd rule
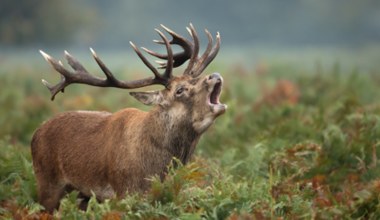
[[[221,104],[219,101],[223,85],[223,78],[220,74],[212,73],[207,76],[201,76],[205,68],[211,63],[219,51],[220,35],[217,33],[215,39],[216,43],[214,44],[212,35],[208,30],[205,30],[208,37],[208,45],[204,53],[199,56],[199,38],[192,24],[187,28],[192,41],[189,41],[164,25],[161,25],[161,27],[171,35],[172,39],[168,40],[160,30],[156,29],[161,40],[155,40],[155,42],[165,45],[167,54],[156,53],[144,47],[141,48],[148,54],[165,60],[157,61],[159,64],[158,68],[154,67],[141,51],[130,42],[137,55],[154,74],[154,77],[135,81],[127,82],[117,80],[92,49],[91,52],[94,59],[106,75],[105,79],[89,74],[86,69],[67,52],[65,52],[66,59],[75,72],[65,69],[60,61],[54,60],[41,51],[45,59],[61,74],[61,82],[55,86],[50,85],[45,80],[42,81],[52,93],[52,100],[59,91],[63,92],[64,88],[71,83],[124,89],[134,89],[159,84],[163,85],[164,89],[159,91],[130,92],[130,94],[143,104],[155,105],[169,112],[172,117],[176,117],[179,120],[190,120],[198,133],[204,132],[215,118],[223,114],[227,108],[225,104]],[[183,51],[174,54],[171,47],[172,45],[179,45]],[[174,76],[173,68],[181,66],[186,61],[188,61],[188,66],[183,74]],[[158,69],[164,69],[164,72],[160,73]]]

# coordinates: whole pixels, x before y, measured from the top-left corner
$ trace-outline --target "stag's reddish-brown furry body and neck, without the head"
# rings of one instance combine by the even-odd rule
[[[156,107],[67,112],[47,121],[32,141],[33,158],[44,158],[34,161],[37,181],[49,179],[39,185],[40,202],[57,202],[71,189],[99,200],[146,190],[147,177],[163,177],[173,157],[186,163],[199,139],[190,122],[171,118]]]

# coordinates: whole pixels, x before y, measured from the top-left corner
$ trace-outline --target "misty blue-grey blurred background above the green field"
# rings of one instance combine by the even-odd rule
[[[2,0],[0,63],[41,61],[39,49],[58,57],[68,49],[86,62],[89,47],[117,57],[111,62],[139,62],[129,41],[157,49],[154,28],[188,36],[190,22],[203,46],[204,28],[221,33],[219,61],[379,65],[378,0]]]

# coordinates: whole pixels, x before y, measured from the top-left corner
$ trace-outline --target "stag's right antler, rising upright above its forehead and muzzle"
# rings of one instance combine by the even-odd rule
[[[193,77],[198,77],[204,71],[204,69],[206,69],[206,67],[211,63],[211,61],[216,57],[216,55],[219,52],[220,43],[221,43],[219,32],[217,32],[216,34],[216,43],[213,46],[214,39],[212,35],[210,34],[210,32],[207,29],[205,29],[205,32],[208,38],[208,45],[203,55],[201,57],[198,57],[199,38],[194,26],[191,23],[190,23],[190,27],[187,27],[187,31],[190,33],[190,36],[192,37],[194,43],[191,43],[183,36],[175,33],[174,31],[165,27],[162,24],[161,24],[161,27],[172,36],[173,39],[170,41],[170,44],[179,45],[184,50],[183,52],[173,55],[174,67],[178,67],[182,65],[184,62],[190,59],[189,65],[187,66],[184,74],[189,74]],[[157,41],[157,40],[155,40],[154,42],[158,44],[165,43],[163,41]],[[145,50],[150,55],[155,56],[157,58],[164,59],[164,60],[168,59],[168,56],[165,54],[159,54],[151,50],[148,50],[146,48],[142,48],[142,49]],[[158,64],[161,66],[161,68],[166,68],[165,63],[158,61]]]

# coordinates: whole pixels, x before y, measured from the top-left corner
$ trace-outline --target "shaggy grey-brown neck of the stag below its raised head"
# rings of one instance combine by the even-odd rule
[[[177,109],[164,110],[159,106],[156,107],[147,115],[150,124],[145,132],[154,148],[164,152],[167,159],[176,157],[186,164],[194,152],[200,135],[195,132],[191,119],[179,114],[185,113]]]

